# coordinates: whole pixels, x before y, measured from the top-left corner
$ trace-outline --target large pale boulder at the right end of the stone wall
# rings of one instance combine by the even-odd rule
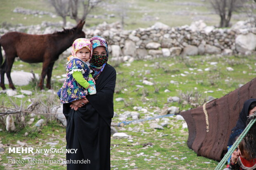
[[[238,35],[235,39],[236,50],[242,54],[247,51],[254,51],[256,49],[256,35],[249,33],[247,35]]]

